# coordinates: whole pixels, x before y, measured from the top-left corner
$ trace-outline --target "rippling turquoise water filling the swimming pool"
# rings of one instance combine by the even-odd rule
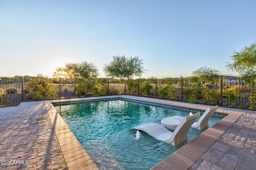
[[[55,108],[99,169],[152,168],[178,148],[143,131],[137,140],[134,127],[151,122],[161,124],[161,119],[166,117],[190,113],[184,109],[130,100],[62,104]],[[222,118],[213,115],[209,126]],[[200,133],[202,131],[190,128],[188,142]]]

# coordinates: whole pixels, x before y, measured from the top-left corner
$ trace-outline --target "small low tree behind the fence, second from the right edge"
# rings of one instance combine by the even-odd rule
[[[218,78],[220,71],[215,68],[209,68],[207,66],[198,68],[192,72],[193,76],[202,77],[204,81],[213,81],[215,78]]]

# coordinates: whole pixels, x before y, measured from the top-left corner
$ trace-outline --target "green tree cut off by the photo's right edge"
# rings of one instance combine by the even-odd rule
[[[241,51],[234,51],[231,56],[233,63],[228,63],[228,70],[236,71],[239,74],[251,74],[256,72],[256,44],[244,47]]]

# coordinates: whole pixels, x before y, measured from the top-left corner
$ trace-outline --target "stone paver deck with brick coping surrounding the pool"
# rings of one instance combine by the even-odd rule
[[[208,106],[136,96],[104,96],[22,102],[0,108],[0,169],[98,169],[52,103],[125,98],[205,111]],[[229,114],[154,166],[167,169],[254,169],[256,111],[219,107]]]

